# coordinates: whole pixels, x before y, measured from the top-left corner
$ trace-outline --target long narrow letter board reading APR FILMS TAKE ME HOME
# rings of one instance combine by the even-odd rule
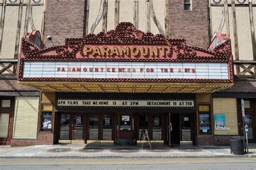
[[[194,107],[194,100],[57,99],[57,107]]]

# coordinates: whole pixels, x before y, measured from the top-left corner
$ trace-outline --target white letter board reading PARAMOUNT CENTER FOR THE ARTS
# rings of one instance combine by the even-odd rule
[[[228,65],[167,62],[24,62],[23,77],[227,80]]]

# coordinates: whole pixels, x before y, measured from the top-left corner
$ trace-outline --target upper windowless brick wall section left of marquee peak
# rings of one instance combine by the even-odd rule
[[[44,42],[46,35],[52,35],[55,45],[64,45],[65,38],[82,38],[84,6],[85,0],[47,1]],[[46,46],[52,46],[52,43],[47,42]]]

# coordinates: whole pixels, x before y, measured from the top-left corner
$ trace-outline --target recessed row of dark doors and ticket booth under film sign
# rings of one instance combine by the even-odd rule
[[[143,140],[147,131],[151,141],[193,144],[194,116],[188,113],[58,113],[58,139],[134,145]]]

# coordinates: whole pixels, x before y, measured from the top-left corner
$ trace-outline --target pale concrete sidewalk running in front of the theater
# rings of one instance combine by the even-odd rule
[[[256,157],[256,144],[251,144],[249,153],[233,155],[230,146],[174,146],[147,145],[141,149],[136,146],[116,145],[38,145],[29,147],[0,147],[0,159],[3,158],[249,158]]]

